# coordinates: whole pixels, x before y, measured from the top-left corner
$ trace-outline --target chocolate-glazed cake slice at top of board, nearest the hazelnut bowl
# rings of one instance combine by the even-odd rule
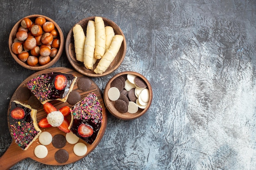
[[[66,102],[76,78],[75,75],[61,72],[40,74],[27,82],[27,88],[42,104],[51,100]]]

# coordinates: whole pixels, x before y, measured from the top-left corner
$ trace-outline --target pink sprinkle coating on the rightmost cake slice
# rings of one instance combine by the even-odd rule
[[[98,97],[92,92],[71,108],[74,119],[92,119],[97,124],[102,120],[102,107]]]

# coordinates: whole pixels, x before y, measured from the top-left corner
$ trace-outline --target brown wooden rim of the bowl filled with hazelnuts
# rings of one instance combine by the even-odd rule
[[[54,23],[55,28],[58,30],[59,37],[60,37],[60,40],[61,40],[61,44],[60,44],[60,47],[59,47],[59,49],[58,49],[58,53],[57,53],[56,57],[54,57],[51,62],[49,62],[49,63],[47,63],[47,64],[45,64],[45,65],[43,65],[43,66],[29,66],[29,65],[27,65],[25,62],[22,62],[22,61],[18,58],[17,54],[15,54],[15,53],[12,52],[12,50],[11,50],[11,45],[12,45],[12,43],[13,43],[13,37],[14,37],[13,35],[16,34],[16,32],[17,32],[17,30],[18,30],[18,27],[20,26],[21,21],[22,21],[24,18],[30,18],[30,19],[33,18],[33,19],[34,19],[34,18],[37,18],[37,17],[44,17],[46,20],[51,21],[51,22]],[[20,19],[18,22],[16,22],[16,24],[15,24],[15,25],[13,26],[13,28],[11,29],[11,32],[10,32],[10,35],[9,35],[9,51],[10,51],[12,57],[14,58],[14,60],[15,60],[16,62],[18,62],[18,64],[20,64],[21,66],[23,66],[23,67],[25,67],[25,68],[27,68],[27,69],[38,71],[38,70],[43,70],[43,69],[45,69],[45,68],[49,68],[50,66],[52,66],[53,64],[55,64],[55,63],[59,60],[59,58],[61,57],[61,55],[62,55],[62,53],[63,53],[64,44],[65,44],[63,32],[61,31],[60,26],[58,26],[58,24],[57,24],[54,20],[52,20],[51,18],[49,18],[49,17],[47,17],[47,16],[45,16],[45,15],[37,15],[37,14],[35,14],[35,15],[28,15],[28,16],[26,16],[26,17],[24,17],[24,18],[22,18],[22,19]]]

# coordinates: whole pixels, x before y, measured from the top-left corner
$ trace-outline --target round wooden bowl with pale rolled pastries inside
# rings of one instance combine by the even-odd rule
[[[70,64],[88,77],[115,71],[126,54],[126,39],[119,26],[108,18],[93,16],[77,22],[65,43]]]

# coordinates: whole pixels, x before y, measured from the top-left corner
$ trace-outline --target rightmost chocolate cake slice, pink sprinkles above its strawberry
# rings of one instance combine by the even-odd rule
[[[71,111],[69,129],[77,137],[88,144],[92,144],[101,128],[102,106],[95,93],[89,93],[84,99],[76,103]]]

